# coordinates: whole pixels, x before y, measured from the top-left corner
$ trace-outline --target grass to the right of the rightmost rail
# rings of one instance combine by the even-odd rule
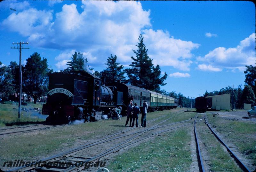
[[[230,121],[218,116],[212,117],[212,115],[207,115],[207,119],[211,126],[217,127],[217,132],[237,146],[239,152],[243,153],[245,158],[253,161],[252,165],[256,165],[255,122]]]

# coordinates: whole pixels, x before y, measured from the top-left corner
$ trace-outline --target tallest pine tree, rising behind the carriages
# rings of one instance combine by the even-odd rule
[[[160,78],[161,70],[160,66],[154,67],[152,60],[148,56],[148,49],[143,42],[144,37],[142,34],[139,36],[138,49],[132,50],[136,57],[132,58],[132,64],[130,69],[125,69],[127,76],[129,77],[129,83],[133,86],[139,86],[148,90],[160,91],[160,86],[164,86],[164,80],[167,78],[165,73],[163,77]]]

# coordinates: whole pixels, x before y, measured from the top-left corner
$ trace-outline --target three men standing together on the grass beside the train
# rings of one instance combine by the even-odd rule
[[[143,107],[142,107],[142,116],[141,116],[141,126],[140,127],[146,127],[146,115],[148,111],[148,103],[147,101],[143,102]],[[127,107],[127,119],[125,126],[127,126],[129,120],[130,120],[130,127],[134,127],[134,122],[136,119],[136,127],[138,127],[138,119],[139,119],[139,113],[140,113],[140,108],[137,106],[137,103],[134,103],[134,106],[132,102],[129,103]]]

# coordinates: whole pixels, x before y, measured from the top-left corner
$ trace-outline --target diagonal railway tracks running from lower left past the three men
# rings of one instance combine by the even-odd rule
[[[177,114],[177,115],[179,115],[179,114]],[[157,119],[160,119],[160,118],[163,118],[163,117],[165,117],[165,116],[162,116],[162,117],[156,118],[156,119],[154,119],[154,120],[151,120],[151,121],[149,121],[148,123],[153,122],[153,121],[156,121]],[[172,116],[172,117],[174,117],[174,116]],[[150,136],[148,136],[148,137],[144,137],[144,138],[141,138],[141,139],[139,139],[139,140],[137,140],[137,141],[135,141],[135,142],[132,142],[133,139],[138,138],[139,136],[141,136],[141,135],[142,135],[143,133],[145,133],[145,132],[148,132],[148,131],[151,131],[151,130],[155,130],[155,129],[161,128],[161,127],[166,127],[166,126],[178,124],[178,123],[185,123],[185,122],[188,122],[189,120],[193,119],[193,118],[191,118],[191,119],[188,119],[188,120],[185,120],[185,121],[180,121],[180,122],[171,123],[171,124],[167,124],[167,125],[163,125],[163,126],[158,126],[159,124],[162,124],[162,123],[166,122],[167,120],[171,119],[172,117],[170,117],[170,118],[168,118],[168,119],[166,119],[166,120],[164,120],[164,121],[162,121],[162,122],[160,122],[160,123],[157,123],[156,125],[154,125],[154,126],[148,128],[148,129],[146,129],[146,130],[141,130],[141,131],[137,131],[137,132],[134,132],[134,133],[129,133],[129,134],[126,134],[126,135],[122,135],[122,136],[119,136],[119,137],[116,137],[116,138],[112,138],[112,137],[114,137],[114,136],[117,136],[117,135],[119,135],[119,134],[124,134],[124,133],[126,133],[126,132],[131,131],[131,130],[134,129],[134,128],[131,128],[131,129],[128,129],[128,130],[121,131],[121,132],[118,132],[118,133],[116,133],[116,134],[113,134],[113,135],[108,136],[108,137],[106,137],[106,138],[102,138],[102,139],[100,139],[100,140],[98,140],[98,141],[95,141],[95,142],[93,142],[93,143],[89,143],[89,144],[86,144],[86,145],[83,145],[83,146],[79,146],[79,147],[77,147],[77,148],[74,148],[74,149],[69,150],[69,151],[64,152],[64,153],[59,153],[59,154],[57,154],[57,155],[53,155],[53,156],[51,156],[51,157],[49,157],[49,158],[45,158],[45,159],[40,160],[40,161],[41,161],[41,162],[46,162],[46,161],[47,161],[47,162],[52,162],[52,161],[55,161],[55,162],[56,162],[56,161],[60,161],[60,160],[67,159],[68,157],[69,157],[69,158],[72,158],[72,157],[74,157],[74,156],[73,156],[74,154],[76,154],[78,151],[81,151],[81,150],[83,150],[83,149],[86,149],[86,148],[89,148],[89,147],[92,147],[92,146],[96,146],[96,145],[103,144],[103,143],[106,143],[106,142],[109,142],[109,141],[113,141],[113,140],[116,140],[116,139],[120,139],[120,138],[124,138],[124,137],[128,137],[128,136],[137,134],[137,135],[135,135],[135,136],[129,138],[128,140],[126,140],[126,141],[124,141],[124,142],[118,144],[117,146],[114,146],[114,147],[112,147],[112,148],[110,148],[110,149],[104,151],[103,153],[100,153],[100,154],[98,154],[98,155],[96,155],[96,156],[94,156],[94,157],[92,157],[92,158],[83,157],[84,159],[87,159],[86,161],[83,161],[84,163],[89,162],[89,161],[90,161],[90,162],[91,162],[91,161],[97,161],[97,160],[99,160],[100,158],[103,158],[103,157],[107,156],[107,155],[110,154],[110,153],[115,153],[115,152],[119,151],[120,149],[122,149],[122,148],[124,148],[124,147],[126,147],[126,146],[129,146],[129,145],[131,145],[131,144],[134,144],[134,143],[137,143],[137,142],[139,142],[139,141],[145,140],[145,139],[147,139],[147,138],[156,136],[156,135],[158,135],[158,134],[160,134],[160,133],[162,133],[162,132],[170,131],[170,130],[173,130],[173,129],[175,129],[175,128],[179,128],[179,127],[182,127],[182,126],[186,126],[186,125],[188,125],[188,124],[192,124],[192,123],[188,123],[188,124],[185,124],[185,125],[182,125],[182,126],[179,126],[179,127],[175,127],[175,128],[172,128],[172,129],[167,129],[167,130],[164,130],[164,131],[152,133],[152,135],[150,135]],[[111,139],[109,139],[109,138],[111,138]],[[108,140],[107,140],[107,139],[108,139]],[[104,140],[105,140],[105,141],[104,141]],[[80,158],[80,159],[81,159],[81,158]],[[74,163],[76,163],[76,162],[74,162]],[[35,165],[36,165],[36,164],[35,164]],[[34,165],[34,166],[35,166],[35,165]],[[76,170],[81,170],[81,168],[83,168],[83,167],[78,167],[78,168],[76,168]],[[32,170],[32,169],[33,169],[33,171],[61,171],[61,170],[62,170],[62,171],[72,171],[72,170],[75,170],[75,167],[74,167],[74,168],[61,168],[61,169],[60,169],[59,167],[58,167],[57,169],[56,169],[56,168],[52,168],[52,167],[51,167],[50,169],[49,169],[49,168],[46,168],[46,167],[36,167],[36,168],[35,168],[35,167],[20,167],[20,168],[11,169],[11,171],[29,171],[29,170]]]

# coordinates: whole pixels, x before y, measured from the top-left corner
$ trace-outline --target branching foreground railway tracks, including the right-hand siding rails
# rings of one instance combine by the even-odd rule
[[[179,113],[177,115],[179,115]],[[250,172],[250,170],[244,165],[244,163],[239,160],[239,158],[230,150],[230,148],[223,142],[223,140],[221,140],[220,137],[212,130],[209,123],[207,122],[205,114],[204,114],[203,118],[200,119],[200,120],[197,120],[197,118],[198,118],[197,117],[198,114],[197,114],[194,118],[190,118],[190,119],[187,119],[187,120],[184,120],[184,121],[179,121],[179,122],[176,122],[176,123],[169,123],[169,124],[166,124],[166,125],[159,126],[160,124],[168,121],[169,119],[171,119],[171,118],[173,118],[177,115],[171,116],[170,118],[165,119],[164,121],[159,122],[159,123],[153,125],[152,127],[147,128],[147,129],[143,128],[144,130],[124,134],[124,133],[127,133],[127,132],[135,129],[135,128],[130,128],[130,129],[127,129],[125,131],[117,132],[117,133],[115,133],[111,136],[108,136],[106,138],[102,138],[100,140],[97,140],[95,142],[92,142],[92,143],[89,143],[89,144],[86,144],[86,145],[83,145],[83,146],[76,147],[76,148],[71,149],[67,152],[59,153],[59,154],[53,155],[51,157],[40,160],[40,162],[58,162],[58,163],[61,163],[61,160],[62,161],[71,161],[72,162],[72,167],[69,167],[69,168],[64,167],[64,166],[62,166],[62,167],[60,167],[60,166],[52,167],[52,166],[49,166],[49,165],[48,166],[44,165],[44,166],[35,167],[36,166],[36,163],[35,163],[32,167],[30,166],[30,167],[13,168],[10,171],[65,171],[65,172],[66,171],[81,171],[85,168],[85,166],[83,166],[83,164],[86,164],[88,162],[93,163],[93,162],[96,162],[96,161],[100,161],[100,160],[104,159],[106,156],[108,156],[109,154],[119,152],[121,149],[123,149],[127,146],[133,145],[135,143],[141,142],[141,141],[146,140],[146,139],[151,138],[151,137],[155,137],[155,136],[157,136],[161,133],[167,132],[167,131],[171,131],[171,130],[174,130],[174,129],[177,129],[177,128],[180,128],[180,127],[184,127],[184,126],[187,126],[187,125],[190,125],[190,124],[194,124],[194,135],[195,135],[195,141],[196,141],[196,152],[197,152],[197,157],[198,157],[198,160],[197,160],[198,161],[198,166],[199,166],[199,170],[204,172],[205,170],[204,170],[203,158],[202,158],[202,154],[200,152],[198,135],[197,135],[197,132],[196,132],[196,123],[201,121],[202,119],[204,119],[204,122],[208,126],[210,131],[220,141],[220,143],[223,144],[227,148],[228,153],[230,153],[231,157],[233,157],[235,159],[238,166],[241,169],[243,169],[244,171]],[[163,117],[165,117],[165,116],[161,116],[161,117],[158,117],[158,118],[153,119],[151,121],[148,121],[148,123],[151,123],[151,122],[156,121],[158,119],[161,119]],[[190,121],[192,119],[194,119],[194,122],[189,123],[188,121]],[[146,136],[142,136],[144,133],[147,133],[148,131],[156,130],[156,129],[159,129],[159,128],[164,128],[164,127],[171,126],[171,125],[174,125],[174,124],[181,124],[181,123],[185,123],[185,124],[179,125],[179,126],[176,126],[176,127],[173,127],[173,128],[167,128],[167,129],[161,130],[161,131],[156,131],[156,132],[153,132],[152,134],[147,134]],[[121,134],[123,134],[123,135],[121,135]],[[121,136],[118,136],[118,135],[121,135]],[[114,137],[114,136],[117,136],[117,137]],[[132,136],[132,137],[127,138],[127,140],[125,140],[125,141],[117,144],[116,146],[113,146],[113,147],[105,150],[104,152],[102,152],[100,154],[97,154],[93,157],[81,157],[81,156],[76,155],[76,153],[78,153],[79,151],[82,151],[86,148],[90,148],[92,146],[97,146],[97,145],[104,144],[104,143],[107,143],[107,142],[110,142],[110,141],[122,139],[122,138],[125,138],[125,137],[128,137],[128,136]],[[137,139],[137,140],[135,140],[135,139]],[[82,164],[82,165],[76,166],[75,164]]]

